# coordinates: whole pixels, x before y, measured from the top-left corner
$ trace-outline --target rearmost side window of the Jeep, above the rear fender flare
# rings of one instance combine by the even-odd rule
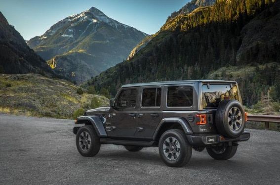
[[[193,105],[193,87],[172,86],[167,89],[168,107],[190,107]]]

